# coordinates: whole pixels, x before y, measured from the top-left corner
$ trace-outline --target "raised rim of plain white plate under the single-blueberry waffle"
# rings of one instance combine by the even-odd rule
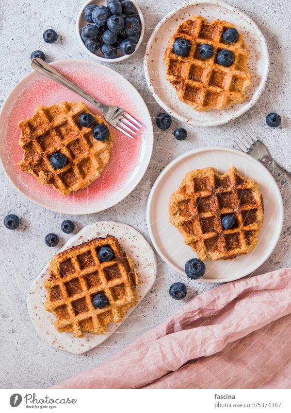
[[[277,235],[275,237],[275,240],[273,242],[273,246],[270,249],[270,251],[266,254],[263,255],[263,258],[260,261],[257,261],[256,264],[253,266],[254,268],[251,271],[247,271],[246,273],[242,273],[239,276],[234,275],[233,277],[230,278],[219,278],[219,279],[214,279],[214,278],[205,278],[202,277],[200,279],[198,279],[198,281],[203,281],[206,283],[225,283],[225,282],[229,282],[229,281],[234,281],[234,280],[238,280],[242,277],[245,277],[246,275],[250,274],[251,272],[255,271],[256,269],[258,269],[272,254],[272,252],[274,251],[279,238],[280,238],[280,234],[282,231],[282,227],[283,227],[283,220],[284,220],[284,206],[283,206],[283,200],[282,200],[282,196],[279,190],[279,187],[275,181],[275,179],[273,178],[272,174],[268,171],[267,168],[265,168],[265,166],[263,166],[263,164],[259,161],[257,161],[255,158],[252,158],[250,155],[245,154],[244,152],[241,152],[237,149],[233,149],[233,148],[227,148],[227,147],[221,147],[221,146],[207,146],[207,147],[203,147],[203,148],[197,148],[197,149],[192,149],[186,153],[183,153],[182,155],[178,156],[177,158],[175,158],[173,161],[171,161],[161,172],[161,174],[158,176],[158,178],[155,180],[152,189],[150,191],[150,194],[148,196],[148,201],[147,201],[147,205],[146,205],[146,224],[147,224],[147,230],[148,233],[150,235],[150,239],[151,242],[155,248],[155,251],[161,256],[162,260],[168,264],[171,268],[174,268],[176,271],[178,271],[180,274],[185,275],[185,271],[181,271],[179,268],[175,267],[168,259],[167,257],[162,253],[162,251],[160,250],[160,247],[158,245],[158,243],[156,242],[154,233],[152,231],[152,223],[151,223],[151,219],[150,219],[150,214],[151,214],[151,208],[152,208],[152,203],[154,200],[154,196],[155,196],[155,192],[160,184],[160,182],[162,181],[162,179],[164,178],[164,176],[168,173],[168,171],[175,166],[177,163],[179,163],[180,161],[182,161],[184,158],[192,156],[192,155],[196,155],[199,154],[201,152],[215,152],[215,151],[227,151],[230,153],[234,153],[234,154],[239,154],[241,155],[243,158],[245,158],[248,161],[254,162],[255,164],[259,165],[259,168],[264,168],[265,172],[267,172],[267,175],[269,175],[269,178],[271,180],[273,180],[273,183],[275,184],[274,187],[277,190],[277,200],[278,200],[278,212],[279,212],[279,218],[280,218],[280,222],[278,223],[278,232]],[[168,205],[168,204],[167,204]]]

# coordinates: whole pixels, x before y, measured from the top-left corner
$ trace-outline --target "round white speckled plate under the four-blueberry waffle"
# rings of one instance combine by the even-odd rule
[[[168,41],[177,26],[191,15],[201,15],[209,21],[216,18],[230,21],[243,34],[245,43],[251,51],[248,67],[253,75],[244,102],[224,110],[198,112],[181,102],[176,90],[166,80],[163,55]],[[171,11],[158,23],[150,36],[144,60],[146,81],[158,104],[179,121],[195,126],[223,125],[250,109],[264,90],[269,66],[267,43],[256,23],[237,8],[215,0],[190,1]]]

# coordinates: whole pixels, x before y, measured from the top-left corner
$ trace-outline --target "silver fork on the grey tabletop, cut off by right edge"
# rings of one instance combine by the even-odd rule
[[[273,168],[273,170],[279,172],[286,180],[291,183],[291,174],[278,165],[272,158],[267,146],[259,141],[253,134],[247,132],[242,128],[244,134],[241,133],[242,138],[238,136],[233,140],[233,142],[238,145],[244,153],[251,155],[253,158],[256,158],[258,161],[265,163]]]

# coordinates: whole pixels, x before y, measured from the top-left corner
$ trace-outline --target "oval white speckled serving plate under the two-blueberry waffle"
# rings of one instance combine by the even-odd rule
[[[144,236],[129,225],[115,221],[99,221],[87,225],[79,233],[73,235],[59,252],[92,238],[105,237],[107,234],[115,236],[124,251],[134,261],[140,280],[137,294],[139,301],[142,300],[155,282],[157,262],[154,251]],[[109,324],[107,333],[102,335],[87,333],[85,337],[78,338],[71,333],[59,333],[53,325],[56,320],[55,316],[46,311],[44,305],[47,291],[43,286],[43,282],[48,276],[49,264],[42,269],[35,279],[27,298],[28,312],[32,323],[40,337],[48,344],[74,354],[84,353],[107,340],[122,323]],[[124,320],[129,317],[134,308],[129,308]]]

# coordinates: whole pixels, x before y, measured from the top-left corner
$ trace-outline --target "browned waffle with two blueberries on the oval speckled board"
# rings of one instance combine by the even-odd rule
[[[97,251],[109,246],[114,256],[101,262]],[[119,323],[129,307],[137,304],[138,276],[129,256],[111,235],[95,238],[56,254],[51,260],[45,307],[57,318],[59,332],[69,331],[76,337],[85,332],[103,334],[109,323]],[[103,293],[109,304],[95,308],[92,300]]]

